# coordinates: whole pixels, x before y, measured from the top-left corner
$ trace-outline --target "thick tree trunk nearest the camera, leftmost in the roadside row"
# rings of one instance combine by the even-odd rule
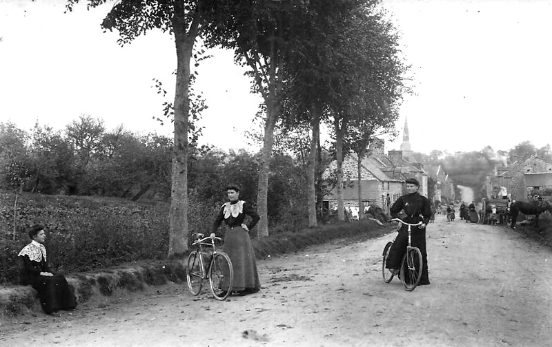
[[[186,35],[185,27],[175,28],[177,78],[175,88],[175,147],[172,156],[172,182],[169,211],[168,255],[188,249],[188,114],[190,59],[195,35]]]

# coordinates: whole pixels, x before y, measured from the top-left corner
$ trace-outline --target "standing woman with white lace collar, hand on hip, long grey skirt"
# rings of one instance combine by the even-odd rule
[[[239,295],[257,293],[261,283],[249,231],[259,222],[260,217],[251,204],[239,200],[239,187],[235,185],[226,187],[226,195],[230,201],[221,206],[211,235],[215,234],[224,220],[226,223],[224,252],[230,257],[234,270],[232,291]],[[244,224],[246,215],[251,218],[249,224]]]

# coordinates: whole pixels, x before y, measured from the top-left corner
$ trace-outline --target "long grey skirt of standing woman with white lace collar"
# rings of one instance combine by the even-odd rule
[[[224,235],[224,252],[232,261],[234,281],[232,291],[248,291],[255,293],[261,288],[255,250],[249,238],[249,233],[242,227],[226,229]]]

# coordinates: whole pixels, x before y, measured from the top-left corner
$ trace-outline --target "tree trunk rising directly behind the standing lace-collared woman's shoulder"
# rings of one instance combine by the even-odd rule
[[[257,223],[257,237],[268,236],[268,176],[270,175],[270,161],[272,160],[272,147],[274,144],[274,125],[279,109],[275,102],[275,96],[269,96],[266,103],[266,121],[264,123],[264,141],[257,183],[257,212],[261,216]]]

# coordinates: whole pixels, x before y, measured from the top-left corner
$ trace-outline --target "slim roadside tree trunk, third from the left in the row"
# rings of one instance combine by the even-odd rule
[[[311,138],[311,153],[308,156],[308,165],[307,165],[308,227],[316,227],[317,222],[316,222],[315,175],[316,175],[318,139],[320,136],[320,114],[319,114],[319,107],[316,103],[313,105],[313,120],[311,121],[311,127],[313,129],[313,137]]]

